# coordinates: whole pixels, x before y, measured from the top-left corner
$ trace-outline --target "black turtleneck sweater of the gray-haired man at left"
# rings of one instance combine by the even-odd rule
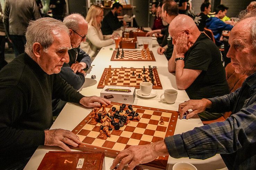
[[[27,54],[0,71],[0,167],[32,156],[44,145],[52,120],[52,98],[79,103],[82,94],[58,74],[46,74]]]

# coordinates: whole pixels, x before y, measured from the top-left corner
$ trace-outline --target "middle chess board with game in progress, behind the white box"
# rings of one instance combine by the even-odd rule
[[[108,69],[105,68],[103,71],[103,74],[101,76],[100,82],[97,86],[97,88],[103,88],[105,86],[105,78],[108,76]],[[114,76],[114,70],[117,69],[117,76]],[[132,75],[134,72],[134,76]],[[112,77],[109,79],[108,85],[111,86],[126,86],[126,87],[135,87],[139,89],[139,84],[143,82],[144,76],[146,76],[147,82],[151,82],[151,79],[149,77],[148,68],[146,68],[145,74],[143,73],[143,68],[111,68]],[[128,74],[129,77],[126,77],[126,74]],[[140,78],[138,78],[138,75],[140,74]],[[153,75],[154,75],[154,84],[153,89],[162,89],[162,84],[160,82],[159,75],[157,73],[157,69],[153,68]],[[121,79],[118,79],[118,77],[121,77]],[[114,78],[115,82],[111,83],[111,79]]]

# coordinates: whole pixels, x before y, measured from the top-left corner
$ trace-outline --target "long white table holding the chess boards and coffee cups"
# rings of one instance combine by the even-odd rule
[[[142,68],[143,66],[148,67],[148,65],[157,66],[157,72],[159,73],[159,77],[160,77],[160,81],[162,83],[163,89],[155,89],[155,91],[157,91],[157,96],[150,99],[145,99],[145,98],[136,96],[134,105],[156,107],[156,108],[162,108],[167,110],[178,110],[178,105],[184,101],[189,100],[189,97],[185,91],[177,89],[175,76],[173,74],[170,74],[167,70],[168,61],[164,55],[159,55],[156,53],[158,44],[156,40],[153,40],[153,41],[155,41],[153,45],[153,49],[150,49],[150,50],[153,51],[153,54],[156,58],[156,62],[113,61],[111,62],[111,66],[112,68],[114,67],[120,68],[121,66],[128,67],[128,68],[129,67]],[[100,92],[102,89],[97,89],[97,84],[99,83],[99,80],[101,78],[104,68],[108,68],[108,66],[110,65],[110,58],[113,53],[113,50],[110,50],[110,48],[114,49],[114,45],[103,47],[97,54],[94,61],[92,62],[93,68],[91,72],[86,75],[85,84],[79,90],[80,93],[82,93],[83,95],[100,96]],[[96,79],[91,79],[91,75],[96,75]],[[163,93],[164,89],[167,89],[167,88],[173,88],[178,90],[177,100],[174,104],[167,104],[167,103],[160,102],[160,95]],[[51,126],[51,129],[61,128],[61,129],[66,129],[71,131],[89,114],[90,111],[91,111],[91,108],[84,108],[76,104],[67,103],[66,106],[63,108],[62,112],[60,113],[60,115],[57,117],[56,121]],[[174,134],[180,134],[182,132],[192,130],[195,127],[202,126],[202,125],[203,124],[199,118],[189,119],[189,120],[178,119]],[[46,146],[38,147],[35,153],[33,154],[32,158],[27,163],[25,169],[28,169],[28,170],[37,169],[45,153],[51,150],[62,150],[62,149],[59,147],[46,147]],[[112,158],[105,157],[106,169],[110,168],[112,161],[113,161]],[[201,169],[215,170],[215,169],[221,169],[225,167],[225,164],[221,159],[220,155],[217,154],[214,157],[206,160],[197,160],[197,159],[188,159],[188,158],[174,159],[169,157],[168,169],[171,170],[173,164],[181,161],[194,164],[194,166],[196,166],[198,170],[201,170]],[[150,169],[150,170],[157,169],[157,168],[152,168],[147,166],[143,166],[143,167],[144,169]]]

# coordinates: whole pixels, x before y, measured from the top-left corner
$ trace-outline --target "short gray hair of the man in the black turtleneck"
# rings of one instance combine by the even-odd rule
[[[30,57],[34,57],[33,44],[40,43],[44,52],[48,53],[49,47],[53,44],[54,34],[60,31],[69,34],[68,28],[60,20],[46,17],[30,21],[25,34],[27,39],[25,52]]]

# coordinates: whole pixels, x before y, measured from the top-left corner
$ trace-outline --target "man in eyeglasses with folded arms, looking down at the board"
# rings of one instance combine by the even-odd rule
[[[63,19],[63,23],[69,29],[71,49],[68,50],[69,63],[64,63],[60,76],[75,89],[79,89],[85,82],[85,71],[91,66],[91,58],[79,45],[85,41],[88,25],[80,14],[71,14]],[[54,116],[59,115],[66,102],[60,99],[52,101],[52,112]]]

